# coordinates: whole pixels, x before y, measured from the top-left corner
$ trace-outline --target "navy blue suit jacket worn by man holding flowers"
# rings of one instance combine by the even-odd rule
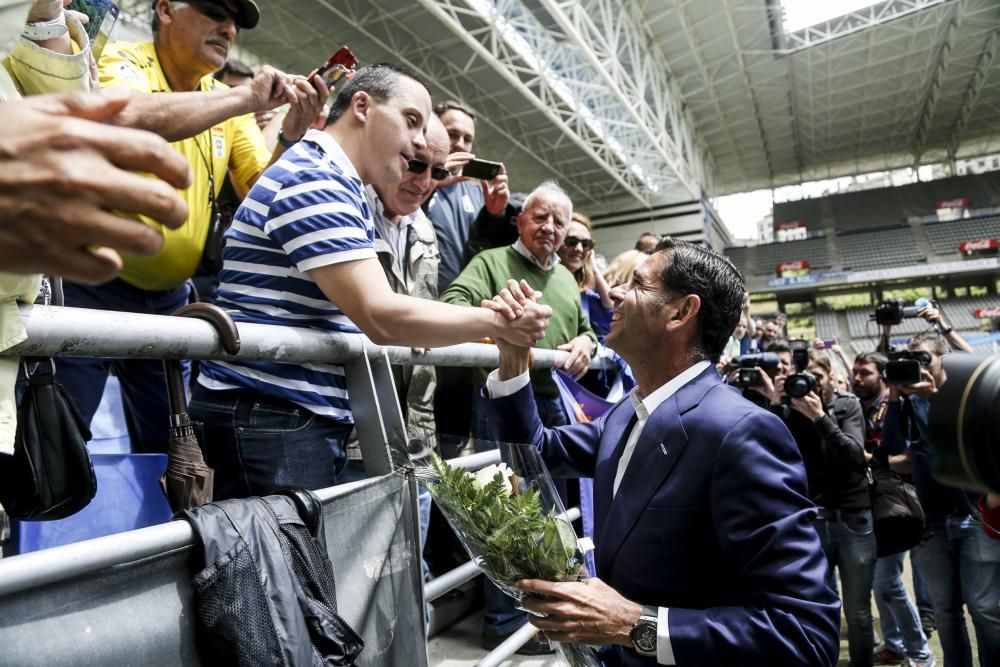
[[[598,576],[669,607],[677,665],[835,665],[840,601],[788,429],[714,368],[650,415],[617,495],[629,399],[595,422],[543,428],[531,388],[487,401],[491,430],[534,443],[554,477],[594,478]],[[612,664],[655,664],[616,647]]]

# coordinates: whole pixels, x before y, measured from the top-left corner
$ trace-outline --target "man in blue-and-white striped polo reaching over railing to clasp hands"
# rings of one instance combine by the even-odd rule
[[[520,317],[392,291],[374,250],[366,185],[399,182],[431,114],[405,68],[364,67],[341,89],[324,130],[268,168],[226,233],[219,302],[238,322],[364,332],[375,343],[434,347],[491,336],[531,345],[550,309]],[[513,313],[508,313],[513,315]],[[337,482],[353,419],[335,364],[208,362],[190,404],[203,422],[216,499]]]

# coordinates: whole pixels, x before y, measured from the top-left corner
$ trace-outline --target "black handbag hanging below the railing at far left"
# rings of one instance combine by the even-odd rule
[[[34,361],[24,364],[28,386],[17,409],[14,453],[0,454],[0,505],[14,519],[51,521],[86,507],[97,479],[87,423],[55,381],[52,360]]]

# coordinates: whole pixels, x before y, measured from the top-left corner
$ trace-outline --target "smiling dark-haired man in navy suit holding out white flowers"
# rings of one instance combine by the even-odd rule
[[[534,443],[553,476],[594,478],[598,576],[520,582],[550,639],[607,645],[609,665],[836,664],[840,602],[798,447],[714,367],[743,290],[725,258],[664,239],[612,291],[607,344],[638,387],[593,423],[543,428],[529,351],[498,341],[494,435]]]

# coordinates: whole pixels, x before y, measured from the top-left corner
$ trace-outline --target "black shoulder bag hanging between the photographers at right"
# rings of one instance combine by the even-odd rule
[[[879,558],[909,551],[924,534],[924,509],[913,484],[887,467],[869,467],[872,517]]]

